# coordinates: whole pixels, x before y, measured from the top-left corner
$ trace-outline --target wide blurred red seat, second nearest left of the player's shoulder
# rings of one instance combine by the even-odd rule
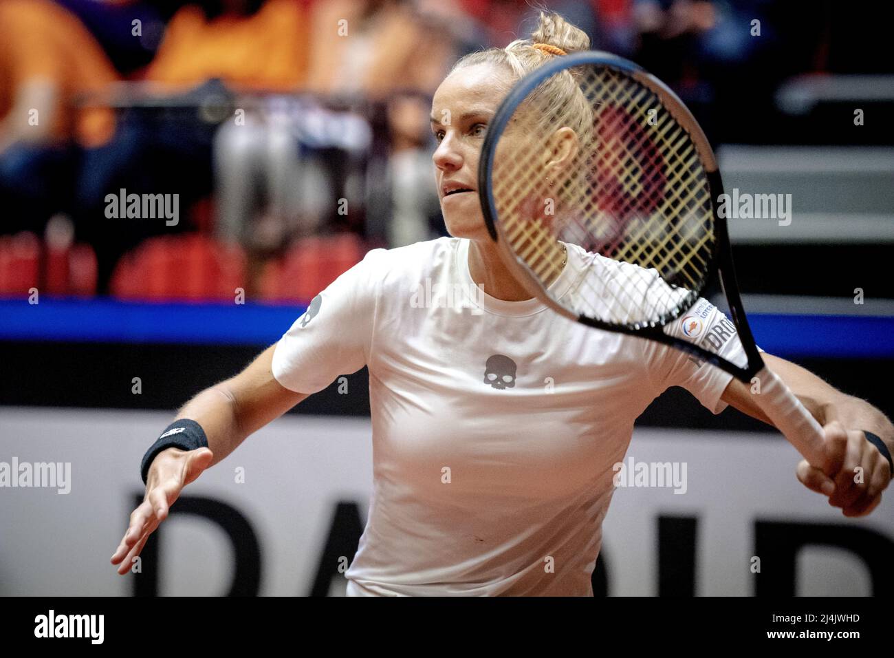
[[[245,253],[206,235],[154,237],[125,254],[112,277],[122,299],[230,300],[245,288]]]

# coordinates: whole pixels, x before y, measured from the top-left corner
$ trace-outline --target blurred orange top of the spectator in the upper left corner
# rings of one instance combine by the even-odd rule
[[[95,93],[119,79],[105,51],[76,16],[50,0],[0,0],[0,120],[13,109],[17,90],[29,81],[55,85],[55,107],[38,110],[38,121],[53,116],[49,134],[98,146],[114,132],[114,113],[107,108],[77,110],[73,97]]]

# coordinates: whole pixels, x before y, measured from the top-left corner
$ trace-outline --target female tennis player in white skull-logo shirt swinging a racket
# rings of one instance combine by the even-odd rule
[[[367,253],[244,372],[181,409],[143,460],[146,498],[111,559],[119,573],[186,484],[364,365],[375,482],[345,574],[349,595],[592,595],[612,466],[655,397],[681,386],[714,414],[732,405],[769,423],[730,374],[549,312],[505,269],[487,234],[475,190],[488,120],[514,81],[587,47],[581,30],[541,13],[531,38],[455,64],[432,106],[451,237]],[[569,249],[562,258],[579,255]],[[552,286],[569,285],[566,271]],[[703,329],[673,330],[694,340],[730,326],[704,299],[690,314]],[[721,355],[735,360],[735,332],[715,334]],[[845,516],[869,514],[890,482],[894,426],[794,363],[765,358],[823,425],[825,463],[801,462],[797,478]]]

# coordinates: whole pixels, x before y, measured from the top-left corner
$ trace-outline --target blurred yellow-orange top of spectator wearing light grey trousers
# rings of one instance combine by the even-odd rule
[[[148,80],[192,87],[221,78],[234,87],[290,91],[308,68],[308,25],[295,0],[268,0],[251,16],[207,21],[197,6],[174,14]]]

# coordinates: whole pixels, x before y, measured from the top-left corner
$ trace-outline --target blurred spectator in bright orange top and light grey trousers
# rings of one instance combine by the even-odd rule
[[[291,129],[272,121],[264,102],[250,95],[299,90],[307,77],[307,44],[306,11],[295,0],[188,5],[174,15],[148,68],[148,80],[164,88],[189,88],[214,78],[249,94],[240,101],[239,114],[224,121],[213,138],[217,232],[228,242],[249,242],[259,196],[274,229],[297,213],[298,143]]]

